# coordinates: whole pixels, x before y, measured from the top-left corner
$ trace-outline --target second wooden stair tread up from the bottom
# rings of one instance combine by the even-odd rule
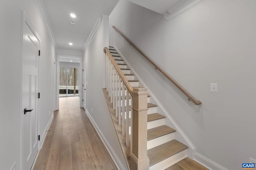
[[[152,139],[156,139],[156,138],[164,136],[164,135],[167,135],[169,133],[173,133],[175,131],[176,131],[175,129],[172,129],[171,127],[166,126],[166,125],[148,129],[148,141],[150,141]]]

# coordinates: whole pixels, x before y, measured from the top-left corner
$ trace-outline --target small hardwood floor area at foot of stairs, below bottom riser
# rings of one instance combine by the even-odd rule
[[[190,158],[185,158],[165,170],[208,170],[208,169]]]

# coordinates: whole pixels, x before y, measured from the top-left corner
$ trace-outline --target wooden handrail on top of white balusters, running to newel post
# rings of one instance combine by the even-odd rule
[[[116,68],[118,74],[120,75],[122,81],[124,82],[127,90],[130,92],[130,95],[132,96],[132,92],[133,92],[133,88],[130,85],[130,83],[128,82],[126,76],[124,75],[124,73],[122,72],[122,70],[120,69],[120,67],[118,66],[118,64],[116,64],[116,61],[114,60],[112,54],[110,53],[110,51],[108,50],[108,47],[104,48],[104,53],[106,53],[108,55],[108,58],[112,61],[112,63],[114,64],[114,67]]]

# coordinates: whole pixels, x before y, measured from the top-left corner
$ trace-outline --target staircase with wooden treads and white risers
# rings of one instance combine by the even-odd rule
[[[128,68],[126,63],[124,63],[124,60],[122,59],[122,57],[118,55],[118,52],[116,52],[116,49],[110,46],[109,51],[112,54],[115,62],[118,64],[118,66],[124,73],[130,85],[132,87],[142,87],[142,83],[136,80],[136,76],[134,76],[130,68]],[[125,98],[126,102],[127,102],[127,98],[128,97]],[[188,146],[184,145],[183,143],[180,143],[175,139],[176,130],[165,125],[166,117],[164,115],[157,113],[157,110],[160,108],[158,108],[156,104],[150,103],[150,101],[153,101],[153,99],[150,99],[149,95],[148,95],[147,101],[148,101],[147,154],[149,158],[150,170],[161,170],[161,169],[164,170],[169,167],[171,168],[172,165],[188,157]],[[129,105],[131,105],[130,96],[129,96]],[[118,107],[122,107],[122,104],[120,104],[120,106]],[[122,114],[121,112],[121,115],[124,115],[124,114]],[[126,115],[124,116],[126,119]],[[130,108],[129,108],[129,122],[130,122],[130,116],[131,115],[130,115]],[[130,126],[130,123],[129,123],[129,126]],[[130,131],[131,130],[129,128],[129,134],[130,134]],[[194,161],[194,163],[196,162]],[[205,169],[204,167],[201,167],[201,166],[198,166],[198,167]]]

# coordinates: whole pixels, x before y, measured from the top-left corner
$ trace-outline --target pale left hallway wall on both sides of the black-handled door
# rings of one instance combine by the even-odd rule
[[[34,0],[2,0],[0,2],[0,165],[9,170],[16,162],[16,170],[20,170],[20,41],[21,41],[21,9],[36,28],[42,41],[40,42],[40,135],[53,114],[53,63],[54,45],[49,38],[40,18]],[[49,115],[50,111],[50,115]]]

